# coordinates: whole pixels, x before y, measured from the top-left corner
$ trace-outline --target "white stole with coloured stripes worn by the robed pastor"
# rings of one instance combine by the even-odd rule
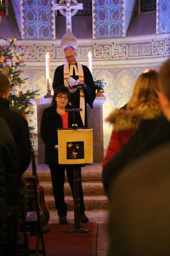
[[[78,70],[77,70],[78,67]],[[77,67],[76,65],[70,65],[70,70],[69,70],[69,64],[66,62],[64,64],[64,86],[68,87],[68,83],[66,79],[69,78],[69,76],[72,76],[73,74],[73,68],[75,70],[75,75],[78,76],[79,80],[84,81],[84,73],[83,73],[83,68],[82,65],[77,62]],[[84,91],[80,90],[80,108],[82,108],[82,111],[80,111],[80,116],[82,118],[82,122],[84,125],[84,120],[85,120],[85,100],[84,100]]]

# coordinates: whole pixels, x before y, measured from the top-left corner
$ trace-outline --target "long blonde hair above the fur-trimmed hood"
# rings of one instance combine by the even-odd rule
[[[149,70],[141,74],[135,83],[133,94],[128,102],[128,108],[133,108],[146,102],[158,102],[158,72]]]

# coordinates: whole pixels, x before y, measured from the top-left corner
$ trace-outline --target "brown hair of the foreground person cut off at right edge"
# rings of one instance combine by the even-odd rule
[[[163,92],[170,101],[170,59],[162,64],[159,72],[160,91]]]

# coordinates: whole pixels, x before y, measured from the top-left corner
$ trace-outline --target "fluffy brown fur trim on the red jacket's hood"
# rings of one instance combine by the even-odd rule
[[[141,104],[133,110],[116,109],[106,118],[113,124],[115,132],[137,129],[139,122],[143,119],[152,119],[162,114],[160,105],[156,102]]]

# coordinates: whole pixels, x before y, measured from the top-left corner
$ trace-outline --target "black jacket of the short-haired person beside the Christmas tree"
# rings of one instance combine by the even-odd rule
[[[31,148],[29,139],[29,128],[25,118],[9,108],[9,101],[0,98],[0,116],[8,124],[14,140],[19,148],[21,160],[21,174],[25,172],[31,161]]]

